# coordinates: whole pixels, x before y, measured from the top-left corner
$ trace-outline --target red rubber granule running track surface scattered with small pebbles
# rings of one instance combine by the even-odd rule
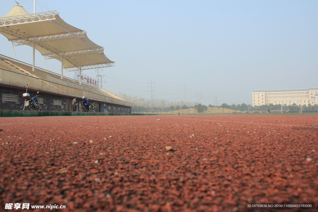
[[[315,202],[317,115],[0,119],[0,211],[246,211]],[[2,130],[2,131],[1,131]],[[253,209],[248,211],[266,211]]]

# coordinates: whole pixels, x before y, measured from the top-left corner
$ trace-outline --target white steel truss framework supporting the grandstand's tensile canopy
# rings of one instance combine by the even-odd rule
[[[43,13],[35,13],[30,15],[21,15],[14,17],[4,17],[0,18],[0,31],[7,33],[9,35],[15,36],[19,39],[10,40],[12,45],[27,45],[27,44],[37,44],[42,48],[45,48],[48,51],[51,51],[53,54],[44,55],[45,58],[62,58],[66,59],[69,63],[74,65],[73,67],[65,68],[66,72],[70,71],[82,71],[85,69],[94,69],[94,68],[103,68],[114,66],[115,62],[109,60],[106,55],[103,53],[104,48],[100,48],[96,44],[94,44],[91,40],[84,36],[85,31],[78,31],[73,26],[67,24],[66,22],[56,18],[56,15],[59,13],[55,13],[56,11],[43,12]],[[67,33],[49,35],[49,36],[38,36],[32,37],[31,35],[26,34],[25,32],[20,32],[19,30],[15,30],[10,28],[10,25],[17,24],[26,24],[26,23],[34,23],[39,21],[49,21],[50,23],[58,26],[63,29]],[[45,43],[47,41],[56,41],[63,39],[71,39],[78,38],[83,43],[85,43],[90,49],[81,50],[81,51],[73,51],[73,52],[62,52],[58,49],[52,47],[51,45]],[[70,56],[75,55],[83,55],[83,54],[94,54],[97,53],[105,60],[105,63],[94,64],[94,65],[79,65],[74,59],[70,58]]]

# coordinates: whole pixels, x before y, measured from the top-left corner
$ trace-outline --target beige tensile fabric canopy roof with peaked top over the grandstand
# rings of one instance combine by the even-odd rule
[[[104,48],[93,43],[86,31],[75,28],[59,17],[56,11],[29,14],[20,5],[0,18],[0,33],[12,45],[36,44],[45,59],[62,60],[66,71],[114,66]]]

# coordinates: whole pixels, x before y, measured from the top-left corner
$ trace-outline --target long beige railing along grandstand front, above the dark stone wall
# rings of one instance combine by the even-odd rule
[[[53,92],[65,93],[70,96],[85,96],[85,97],[89,97],[92,100],[94,99],[94,100],[102,101],[102,102],[134,106],[134,104],[130,102],[108,97],[108,96],[99,94],[96,91],[93,92],[93,90],[88,91],[87,87],[85,87],[85,90],[80,89],[78,87],[79,85],[77,84],[75,84],[77,85],[76,87],[68,86],[67,84],[62,85],[62,84],[55,83],[49,80],[39,79],[36,77],[20,74],[20,73],[6,70],[3,68],[0,68],[0,81],[18,84],[18,85],[28,84],[30,87],[53,91]]]

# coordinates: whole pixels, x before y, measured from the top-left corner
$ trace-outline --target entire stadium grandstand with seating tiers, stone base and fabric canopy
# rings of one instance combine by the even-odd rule
[[[0,18],[0,33],[12,46],[29,45],[33,48],[33,64],[0,55],[0,109],[22,110],[26,85],[31,96],[37,91],[42,110],[71,111],[74,96],[96,102],[97,112],[104,103],[111,113],[131,113],[133,103],[101,89],[98,81],[83,70],[114,66],[104,54],[104,48],[94,44],[86,32],[67,24],[56,11],[30,14],[20,5]],[[31,50],[31,49],[30,49]],[[61,61],[61,74],[35,66],[35,50],[45,59]],[[3,52],[0,52],[3,53]],[[63,76],[75,71],[74,79]]]

